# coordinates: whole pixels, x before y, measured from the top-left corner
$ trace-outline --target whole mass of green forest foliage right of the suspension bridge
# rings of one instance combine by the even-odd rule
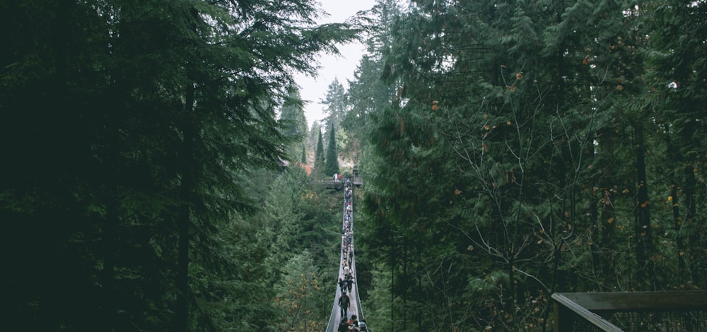
[[[552,292],[703,287],[702,7],[380,1],[344,121],[378,319],[544,331]]]

